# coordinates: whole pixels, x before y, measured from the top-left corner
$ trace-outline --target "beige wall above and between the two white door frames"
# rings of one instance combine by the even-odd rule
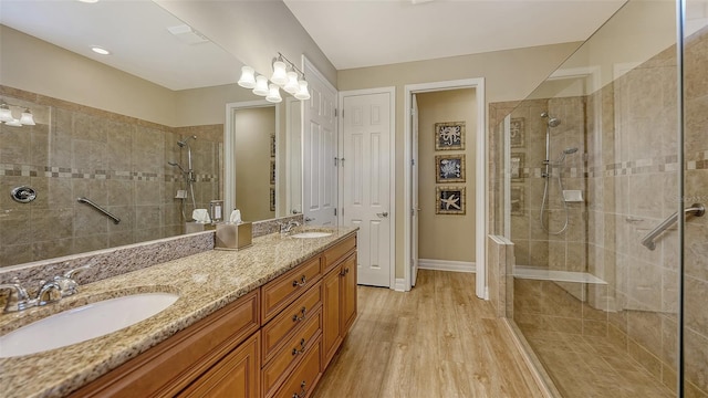
[[[342,91],[396,87],[396,277],[404,274],[404,87],[407,84],[485,77],[485,103],[520,101],[568,57],[580,43],[543,45],[483,54],[339,71]],[[486,106],[487,107],[487,106]]]

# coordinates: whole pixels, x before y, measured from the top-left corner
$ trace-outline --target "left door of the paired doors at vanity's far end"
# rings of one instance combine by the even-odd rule
[[[336,353],[342,341],[341,266],[333,269],[322,280],[322,371]]]

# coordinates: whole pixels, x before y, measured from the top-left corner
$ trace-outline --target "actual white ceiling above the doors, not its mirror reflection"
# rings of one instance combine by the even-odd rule
[[[586,40],[624,0],[284,0],[337,70]]]

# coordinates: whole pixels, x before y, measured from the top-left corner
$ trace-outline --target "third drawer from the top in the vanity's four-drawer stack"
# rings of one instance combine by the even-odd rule
[[[279,349],[273,358],[263,367],[263,391],[266,397],[275,392],[280,381],[290,374],[291,368],[310,350],[315,349],[315,342],[322,331],[322,311],[317,310],[304,326],[296,331]]]

